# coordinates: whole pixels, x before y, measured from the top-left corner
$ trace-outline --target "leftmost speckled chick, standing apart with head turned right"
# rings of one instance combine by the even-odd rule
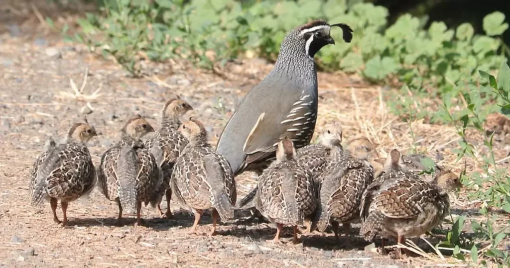
[[[97,134],[92,126],[74,124],[65,143],[49,142],[47,150],[34,163],[29,186],[32,204],[48,200],[53,220],[63,226],[67,225],[67,204],[89,193],[96,183],[94,165],[85,145],[94,136]],[[59,200],[63,222],[56,213]]]

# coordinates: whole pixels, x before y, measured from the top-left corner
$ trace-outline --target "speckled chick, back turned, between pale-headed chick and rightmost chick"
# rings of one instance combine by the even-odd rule
[[[350,223],[359,220],[363,191],[372,182],[374,169],[367,161],[370,152],[363,146],[353,152],[340,147],[320,175],[319,205],[314,226],[324,232],[329,222],[339,242],[338,227],[342,223],[346,240],[342,246],[349,246]]]

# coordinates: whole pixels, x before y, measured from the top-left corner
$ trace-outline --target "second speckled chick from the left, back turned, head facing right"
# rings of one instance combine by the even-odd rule
[[[156,159],[140,140],[154,131],[140,115],[126,121],[120,141],[101,156],[97,169],[99,186],[109,200],[119,206],[117,224],[122,224],[122,210],[137,211],[137,226],[142,225],[142,202],[156,206],[155,193],[162,184]]]

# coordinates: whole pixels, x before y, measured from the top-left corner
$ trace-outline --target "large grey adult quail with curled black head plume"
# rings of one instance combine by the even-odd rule
[[[310,142],[317,118],[314,56],[323,46],[335,43],[329,35],[334,26],[342,29],[346,42],[351,41],[352,30],[342,23],[314,20],[290,31],[271,72],[237,107],[217,144],[235,175],[244,170],[261,174],[284,137],[296,148]]]

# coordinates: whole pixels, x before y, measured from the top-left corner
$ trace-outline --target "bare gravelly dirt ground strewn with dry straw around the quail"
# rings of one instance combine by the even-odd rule
[[[365,251],[368,243],[356,235],[356,226],[351,231],[351,249],[336,247],[330,231],[303,235],[299,245],[275,245],[266,242],[274,235],[274,226],[254,220],[222,224],[214,237],[188,235],[192,216],[175,203],[172,220],[160,218],[156,209],[147,207],[143,209],[146,227],[133,227],[133,215],[126,215],[132,218],[129,224],[116,227],[117,206],[98,190],[71,203],[69,226],[57,226],[48,204],[39,208],[29,204],[32,164],[49,137],[63,137],[86,116],[100,134],[89,143],[97,165],[101,153],[116,142],[125,119],[140,114],[158,126],[165,98],[177,93],[194,107],[191,115],[205,123],[215,144],[236,104],[272,65],[257,59],[239,61],[223,70],[225,78],[176,62],[146,64],[147,77],[133,79],[84,46],[63,43],[37,19],[37,9],[30,5],[9,9],[2,2],[6,1],[0,1],[0,6],[7,8],[0,9],[0,266],[419,267],[456,263],[433,253],[429,258],[393,260]],[[86,71],[83,91],[74,94],[70,79],[81,88]],[[410,152],[414,143],[419,151],[458,174],[464,163],[455,163],[456,155],[451,152],[458,139],[454,129],[402,122],[385,105],[391,91],[341,73],[319,74],[318,128],[337,118],[345,139],[369,137],[378,144],[380,157],[393,148]],[[481,143],[479,137],[471,138]],[[508,148],[502,143],[495,147],[496,158],[505,158]],[[468,172],[478,168],[474,162],[466,164]],[[501,164],[507,165],[507,160]],[[251,174],[238,177],[239,196],[255,183]],[[452,196],[452,214],[467,215],[468,220],[476,217],[470,211],[477,205],[467,202],[462,192]],[[211,227],[206,216],[199,231],[206,233]],[[287,230],[284,240],[290,236]],[[421,247],[430,252],[426,244]]]

